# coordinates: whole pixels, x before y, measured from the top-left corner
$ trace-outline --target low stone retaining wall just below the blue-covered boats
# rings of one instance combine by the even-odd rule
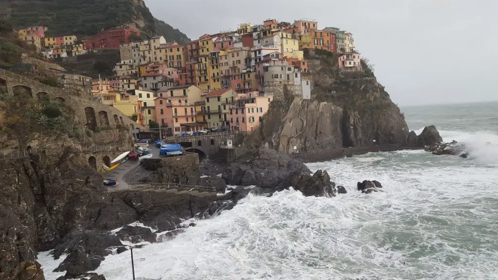
[[[199,155],[197,153],[184,152],[181,156],[145,158],[142,160],[142,165],[145,169],[153,171],[159,167],[198,170]]]

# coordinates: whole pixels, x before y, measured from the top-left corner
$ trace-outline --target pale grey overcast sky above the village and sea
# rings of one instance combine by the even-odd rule
[[[400,106],[497,101],[496,0],[145,0],[196,39],[267,18],[318,20],[353,33]]]

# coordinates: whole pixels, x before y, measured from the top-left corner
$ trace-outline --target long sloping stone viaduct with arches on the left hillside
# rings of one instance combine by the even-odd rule
[[[116,128],[123,125],[130,129],[144,129],[112,106],[71,95],[63,89],[47,86],[4,69],[0,69],[0,91],[11,96],[36,98],[40,102],[50,100],[65,104],[74,110],[78,121],[89,128]]]

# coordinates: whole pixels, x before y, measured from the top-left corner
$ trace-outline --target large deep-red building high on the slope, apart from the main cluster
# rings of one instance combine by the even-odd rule
[[[85,47],[87,50],[116,49],[119,48],[121,44],[130,43],[129,35],[131,34],[140,36],[140,30],[129,26],[114,27],[101,31],[94,37],[87,39],[85,41]]]

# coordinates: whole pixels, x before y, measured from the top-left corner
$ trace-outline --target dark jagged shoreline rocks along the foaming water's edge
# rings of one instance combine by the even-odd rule
[[[418,137],[410,135],[412,138],[409,136],[405,145],[344,148],[342,150],[346,153],[341,151],[340,155],[331,153],[326,156],[418,149],[423,148],[421,144],[440,138],[437,130],[430,127]],[[195,226],[185,221],[208,219],[232,209],[249,192],[271,196],[274,192],[293,187],[305,196],[335,197],[347,193],[344,186],[336,186],[331,181],[326,171],[318,170],[313,174],[302,161],[264,145],[245,148],[228,165],[206,162],[199,170],[158,168],[155,172],[136,170],[129,175],[142,182],[212,186],[222,193],[218,196],[139,191],[109,193],[102,186],[102,176],[81,164],[74,149],[68,149],[55,165],[48,164],[43,156],[33,156],[12,162],[7,166],[10,171],[1,173],[0,179],[4,182],[1,191],[7,200],[0,199],[0,204],[8,207],[1,207],[0,214],[6,217],[7,225],[0,224],[0,229],[5,232],[14,227],[18,231],[15,234],[7,232],[0,240],[3,248],[10,248],[12,253],[2,258],[16,260],[11,266],[3,266],[12,272],[19,267],[18,264],[28,262],[38,268],[36,275],[28,276],[44,279],[43,273],[39,272],[40,265],[35,261],[36,255],[29,252],[53,250],[55,259],[67,255],[56,269],[66,272],[58,280],[75,277],[102,280],[105,279],[103,276],[89,272],[98,268],[107,255],[126,252],[129,246],[124,241],[130,244],[167,241],[181,234],[186,227]],[[67,157],[69,153],[73,154],[71,158]],[[13,173],[18,174],[17,178],[12,178]],[[227,188],[230,192],[225,193]],[[369,194],[379,191],[382,185],[365,180],[358,182],[357,188]],[[19,205],[9,204],[9,197],[16,196],[31,208],[22,210]],[[26,214],[12,216],[12,213],[22,211]],[[41,277],[33,277],[37,275]]]

